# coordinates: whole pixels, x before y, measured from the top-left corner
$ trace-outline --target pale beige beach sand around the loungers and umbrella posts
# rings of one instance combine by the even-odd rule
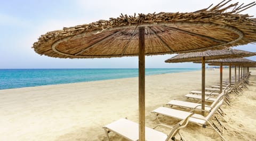
[[[227,140],[256,140],[256,70],[251,71],[249,89],[242,96],[231,95],[231,108],[222,106]],[[228,69],[223,69],[226,78]],[[219,69],[207,69],[206,86],[218,82]],[[150,111],[200,89],[201,71],[147,76],[146,126],[157,125]],[[138,122],[138,78],[0,90],[0,140],[107,140],[102,126],[125,117]],[[221,140],[212,129],[193,123],[181,134],[187,140]],[[125,140],[113,133],[110,138]]]

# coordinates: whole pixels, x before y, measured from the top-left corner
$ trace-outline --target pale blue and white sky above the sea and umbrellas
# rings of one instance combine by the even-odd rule
[[[0,0],[0,69],[5,68],[138,68],[138,57],[111,59],[56,59],[40,56],[31,48],[40,35],[63,27],[90,23],[100,19],[116,18],[120,13],[193,12],[222,0],[194,1],[54,1],[54,0]],[[235,3],[237,1],[234,1]],[[239,3],[249,4],[250,0]],[[243,13],[256,16],[256,6]],[[255,17],[256,18],[256,17]],[[234,47],[256,52],[249,44]],[[193,63],[164,63],[173,55],[146,57],[146,68],[200,68]],[[248,57],[256,61],[256,57]]]

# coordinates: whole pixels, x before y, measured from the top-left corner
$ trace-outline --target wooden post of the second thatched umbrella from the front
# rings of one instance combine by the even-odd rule
[[[202,115],[204,115],[205,104],[205,57],[202,57]]]

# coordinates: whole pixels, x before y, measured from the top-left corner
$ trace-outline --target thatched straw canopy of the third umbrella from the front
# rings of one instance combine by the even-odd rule
[[[201,63],[201,61],[196,61],[193,63]],[[244,59],[244,58],[208,60],[208,61],[205,61],[205,63],[215,64],[215,65],[220,65],[220,63],[222,63],[222,65],[229,65],[229,64],[255,65],[256,64],[255,61]]]

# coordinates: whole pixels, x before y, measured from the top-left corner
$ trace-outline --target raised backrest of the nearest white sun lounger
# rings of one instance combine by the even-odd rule
[[[171,130],[171,132],[169,133],[169,135],[167,136],[167,138],[165,139],[165,141],[168,141],[170,138],[175,137],[179,130],[186,127],[188,125],[188,119],[191,117],[191,115],[193,115],[194,113],[191,113],[190,115],[188,115],[188,117],[186,119],[181,120],[179,123],[177,123],[177,125],[175,125],[173,127],[173,129]]]

